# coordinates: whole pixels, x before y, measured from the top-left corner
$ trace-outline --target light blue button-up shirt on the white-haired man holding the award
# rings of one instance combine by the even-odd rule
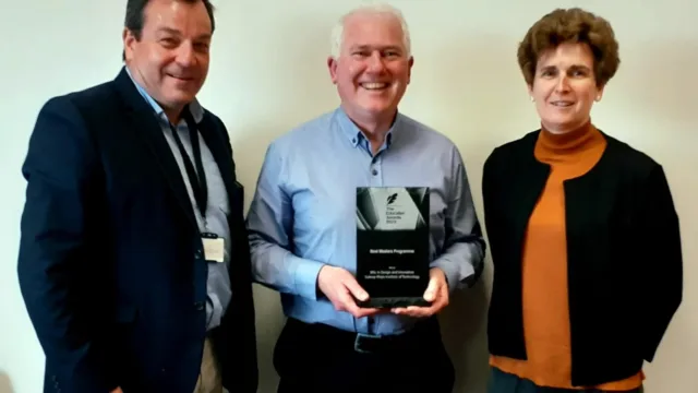
[[[363,133],[337,108],[267,148],[248,213],[253,277],[281,293],[288,317],[346,331],[401,333],[416,320],[356,319],[336,311],[316,286],[324,264],[356,274],[359,186],[430,187],[431,265],[444,271],[452,291],[479,276],[485,246],[458,148],[398,114],[373,156]]]

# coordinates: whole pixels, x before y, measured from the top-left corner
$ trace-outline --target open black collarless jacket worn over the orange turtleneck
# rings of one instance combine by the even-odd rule
[[[526,359],[524,235],[550,172],[533,155],[539,132],[495,148],[482,179],[494,263],[489,347],[516,359]],[[638,372],[653,359],[682,301],[678,218],[663,169],[603,135],[599,163],[564,182],[574,385]]]

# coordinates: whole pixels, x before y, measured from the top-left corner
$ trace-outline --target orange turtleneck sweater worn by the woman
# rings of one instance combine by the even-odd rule
[[[549,164],[551,174],[530,216],[524,243],[522,306],[528,360],[492,356],[490,364],[539,386],[626,391],[640,386],[645,379],[640,371],[598,386],[571,385],[563,181],[589,171],[605,146],[605,139],[591,122],[564,134],[543,129],[535,144],[535,158]]]

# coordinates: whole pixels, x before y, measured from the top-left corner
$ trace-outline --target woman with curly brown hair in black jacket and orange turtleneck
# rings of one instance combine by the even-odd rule
[[[590,118],[619,64],[613,29],[555,10],[518,61],[541,127],[483,170],[490,392],[641,392],[682,300],[682,250],[662,166]]]

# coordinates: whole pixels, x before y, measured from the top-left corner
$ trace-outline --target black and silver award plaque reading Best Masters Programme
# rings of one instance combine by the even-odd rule
[[[357,282],[363,308],[429,306],[429,188],[357,189]]]

